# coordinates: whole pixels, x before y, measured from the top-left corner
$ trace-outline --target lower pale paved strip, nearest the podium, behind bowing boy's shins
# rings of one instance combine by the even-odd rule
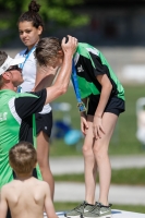
[[[96,187],[96,201],[99,193]],[[85,197],[84,183],[56,182],[55,201],[83,202]],[[111,204],[145,205],[145,186],[111,185],[109,192]]]

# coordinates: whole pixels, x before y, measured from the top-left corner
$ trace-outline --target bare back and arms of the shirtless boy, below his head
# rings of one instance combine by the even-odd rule
[[[12,218],[44,218],[44,209],[49,218],[57,218],[48,183],[33,177],[5,184],[1,190],[3,208],[4,202],[9,205]]]

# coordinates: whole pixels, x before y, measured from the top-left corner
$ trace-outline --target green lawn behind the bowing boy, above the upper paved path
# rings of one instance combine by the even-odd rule
[[[124,86],[125,89],[125,112],[120,114],[113,136],[110,142],[110,155],[145,154],[141,143],[136,138],[136,100],[144,97],[144,85]],[[70,117],[72,128],[80,130],[80,112],[76,107],[74,90],[69,87],[67,94],[59,97],[55,102],[70,102],[72,108]],[[64,112],[53,111],[53,120],[62,120]],[[63,138],[51,140],[51,156],[74,156],[82,155],[83,141],[77,145],[68,146]]]

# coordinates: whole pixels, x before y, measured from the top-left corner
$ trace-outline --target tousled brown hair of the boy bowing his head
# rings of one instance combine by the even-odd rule
[[[35,58],[39,65],[52,65],[62,51],[61,40],[56,37],[41,38],[36,45]]]

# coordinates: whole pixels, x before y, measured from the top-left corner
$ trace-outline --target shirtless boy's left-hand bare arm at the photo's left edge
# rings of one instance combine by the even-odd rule
[[[5,198],[5,189],[2,187],[0,191],[0,218],[5,218],[8,211],[8,203]]]

